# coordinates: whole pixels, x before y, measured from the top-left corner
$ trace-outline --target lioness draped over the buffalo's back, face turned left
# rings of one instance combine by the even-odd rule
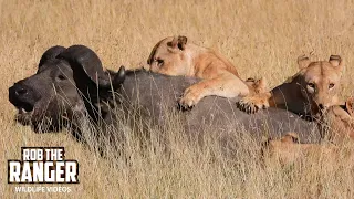
[[[210,49],[187,42],[183,35],[159,41],[147,64],[144,69],[155,73],[202,78],[184,92],[179,101],[184,107],[191,107],[208,95],[236,97],[252,92],[252,86],[239,77],[236,67],[227,59]]]

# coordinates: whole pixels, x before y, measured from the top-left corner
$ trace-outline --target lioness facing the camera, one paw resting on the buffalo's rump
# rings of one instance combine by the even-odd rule
[[[243,97],[238,107],[247,113],[260,108],[279,107],[303,116],[316,116],[337,103],[337,91],[344,62],[339,55],[330,61],[311,62],[308,56],[298,59],[300,71],[289,81],[270,92]]]

